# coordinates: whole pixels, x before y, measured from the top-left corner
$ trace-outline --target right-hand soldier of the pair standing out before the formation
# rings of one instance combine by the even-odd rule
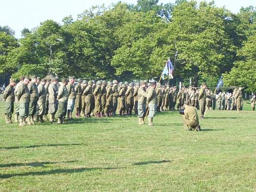
[[[153,126],[153,118],[157,109],[157,93],[156,93],[156,81],[151,82],[151,87],[148,89],[146,102],[148,103],[148,125]]]

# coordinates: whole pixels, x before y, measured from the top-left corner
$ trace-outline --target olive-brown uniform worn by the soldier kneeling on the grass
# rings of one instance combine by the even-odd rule
[[[197,108],[195,108],[194,106],[188,106],[184,110],[183,122],[186,127],[189,127],[189,130],[190,127],[191,129],[196,129],[196,127],[199,125]]]

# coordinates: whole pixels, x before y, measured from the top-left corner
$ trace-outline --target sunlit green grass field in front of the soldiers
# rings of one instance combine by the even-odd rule
[[[256,191],[256,112],[210,111],[202,132],[177,112],[65,125],[4,123],[0,191]]]

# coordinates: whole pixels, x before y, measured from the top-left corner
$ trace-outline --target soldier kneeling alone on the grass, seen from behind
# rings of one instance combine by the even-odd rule
[[[201,127],[199,125],[199,119],[197,114],[197,108],[194,106],[189,106],[189,102],[184,102],[184,115],[183,122],[187,131],[201,131]]]

